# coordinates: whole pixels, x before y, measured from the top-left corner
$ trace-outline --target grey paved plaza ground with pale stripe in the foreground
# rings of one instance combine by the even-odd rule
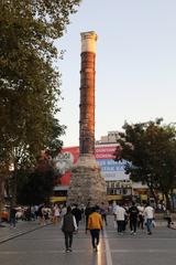
[[[0,227],[2,265],[173,265],[175,261],[176,230],[165,226],[155,227],[152,235],[142,230],[118,235],[109,216],[97,253],[84,223],[74,235],[72,253],[65,253],[59,224],[41,227],[37,222],[19,222],[15,230]]]

